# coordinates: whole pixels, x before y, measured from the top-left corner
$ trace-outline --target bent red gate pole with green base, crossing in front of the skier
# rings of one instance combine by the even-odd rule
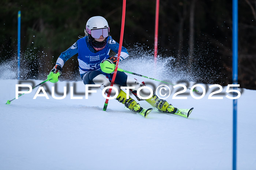
[[[116,79],[116,74],[117,74],[117,68],[118,68],[118,64],[119,64],[119,60],[120,60],[120,55],[121,55],[121,50],[122,50],[122,45],[123,45],[123,37],[124,37],[124,20],[125,20],[125,5],[126,5],[126,0],[123,0],[123,13],[122,13],[122,24],[121,24],[121,34],[120,34],[120,42],[119,42],[119,48],[118,48],[118,54],[117,54],[117,62],[116,62],[116,67],[114,70],[114,75],[113,78],[111,80],[111,84],[110,87],[113,86],[114,81]],[[108,91],[108,98],[110,96],[110,93],[112,91],[112,88],[109,88]],[[105,103],[104,103],[104,107],[103,107],[103,111],[106,111],[107,107],[108,107],[108,102],[109,99],[106,99]]]

